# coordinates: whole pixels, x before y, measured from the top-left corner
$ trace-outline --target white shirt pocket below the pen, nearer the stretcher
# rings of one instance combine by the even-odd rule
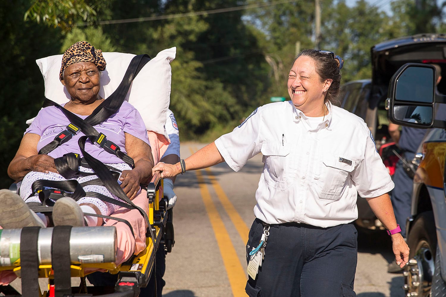
[[[263,155],[265,182],[276,189],[284,190],[291,186],[291,146],[282,142],[264,142],[260,149]]]

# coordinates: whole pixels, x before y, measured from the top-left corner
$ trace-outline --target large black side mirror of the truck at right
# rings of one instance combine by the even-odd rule
[[[403,65],[390,81],[388,96],[386,109],[391,122],[417,128],[434,126],[434,66]]]

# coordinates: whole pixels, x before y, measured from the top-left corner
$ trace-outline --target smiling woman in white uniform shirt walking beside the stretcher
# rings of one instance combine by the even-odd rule
[[[153,168],[164,177],[221,162],[239,171],[263,154],[246,246],[249,296],[356,296],[358,193],[389,230],[396,262],[408,260],[387,194],[392,179],[370,130],[331,103],[342,65],[332,52],[302,51],[289,71],[291,101],[261,106],[186,160]]]

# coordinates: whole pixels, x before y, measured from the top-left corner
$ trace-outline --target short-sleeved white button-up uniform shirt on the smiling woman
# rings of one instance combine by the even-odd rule
[[[370,198],[393,189],[364,121],[331,104],[328,109],[322,122],[291,101],[270,103],[215,140],[234,171],[263,154],[254,214],[265,223],[350,223],[358,218],[358,193]]]

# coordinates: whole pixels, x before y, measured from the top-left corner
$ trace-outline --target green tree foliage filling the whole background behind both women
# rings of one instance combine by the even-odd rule
[[[446,29],[446,4],[435,0],[395,0],[390,12],[365,0],[354,6],[320,2],[320,46],[344,58],[344,82],[370,77],[370,48],[376,43]],[[243,5],[250,8],[212,13]],[[8,148],[0,157],[1,186],[11,182],[6,168],[25,119],[37,114],[44,96],[36,59],[63,53],[79,40],[103,51],[151,57],[175,46],[170,107],[182,140],[202,139],[232,130],[272,96],[288,97],[286,76],[297,51],[315,46],[314,12],[314,0],[1,1],[0,59],[9,82],[0,89],[0,143]],[[157,16],[165,17],[133,20]],[[111,20],[124,21],[103,24]]]

